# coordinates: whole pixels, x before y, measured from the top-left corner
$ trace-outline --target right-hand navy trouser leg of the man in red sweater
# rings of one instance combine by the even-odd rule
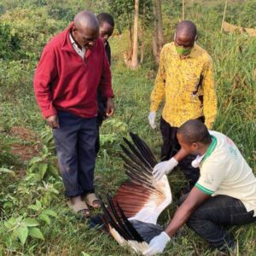
[[[79,130],[78,159],[79,185],[84,193],[94,192],[96,131],[96,118],[83,119],[83,125]]]

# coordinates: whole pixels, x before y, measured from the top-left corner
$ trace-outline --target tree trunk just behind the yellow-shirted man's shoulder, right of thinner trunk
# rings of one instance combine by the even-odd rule
[[[154,38],[153,38],[153,52],[155,61],[158,63],[160,58],[160,51],[164,46],[164,30],[162,20],[161,0],[154,1]]]

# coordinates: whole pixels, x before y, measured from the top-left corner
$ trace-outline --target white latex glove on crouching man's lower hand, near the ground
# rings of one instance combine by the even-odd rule
[[[151,256],[157,253],[162,253],[166,247],[167,242],[170,240],[170,236],[168,236],[166,232],[163,231],[159,236],[155,236],[149,242],[149,248],[143,252],[143,255]]]

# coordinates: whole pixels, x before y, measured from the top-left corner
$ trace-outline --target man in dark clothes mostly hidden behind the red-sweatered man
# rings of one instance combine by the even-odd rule
[[[108,38],[113,34],[114,21],[112,15],[107,13],[101,13],[97,15],[97,19],[100,25],[100,37],[104,41],[106,55],[108,56],[109,65],[111,65],[111,49],[108,44]],[[100,126],[102,125],[103,120],[108,116],[105,112],[106,110],[106,99],[102,97],[102,88],[98,88],[98,116],[97,116],[97,138],[96,138],[96,154],[100,150]]]

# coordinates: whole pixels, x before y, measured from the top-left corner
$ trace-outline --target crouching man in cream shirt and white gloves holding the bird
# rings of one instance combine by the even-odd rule
[[[199,120],[189,120],[177,130],[181,149],[171,160],[154,167],[154,177],[172,171],[187,154],[196,154],[192,166],[200,177],[189,194],[179,200],[179,208],[160,236],[150,241],[145,255],[163,252],[175,232],[187,224],[212,247],[228,252],[235,248],[225,225],[241,225],[256,220],[256,177],[235,143],[217,131],[208,131]]]

